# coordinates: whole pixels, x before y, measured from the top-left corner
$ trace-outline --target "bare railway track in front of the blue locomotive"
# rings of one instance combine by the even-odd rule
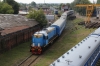
[[[18,64],[17,66],[30,66],[32,63],[34,63],[40,55],[30,55],[29,57],[27,57],[25,60],[23,60],[20,64]]]

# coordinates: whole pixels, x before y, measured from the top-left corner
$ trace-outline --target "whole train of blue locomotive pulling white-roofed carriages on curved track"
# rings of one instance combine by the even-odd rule
[[[64,12],[61,17],[50,27],[34,33],[32,36],[32,45],[30,51],[32,54],[41,54],[43,49],[61,35],[65,28],[67,16],[74,13],[73,10]]]

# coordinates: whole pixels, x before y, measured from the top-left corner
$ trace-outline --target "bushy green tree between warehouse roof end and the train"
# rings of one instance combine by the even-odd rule
[[[47,25],[46,17],[41,9],[38,11],[31,10],[27,17],[30,19],[35,19],[42,27]]]

